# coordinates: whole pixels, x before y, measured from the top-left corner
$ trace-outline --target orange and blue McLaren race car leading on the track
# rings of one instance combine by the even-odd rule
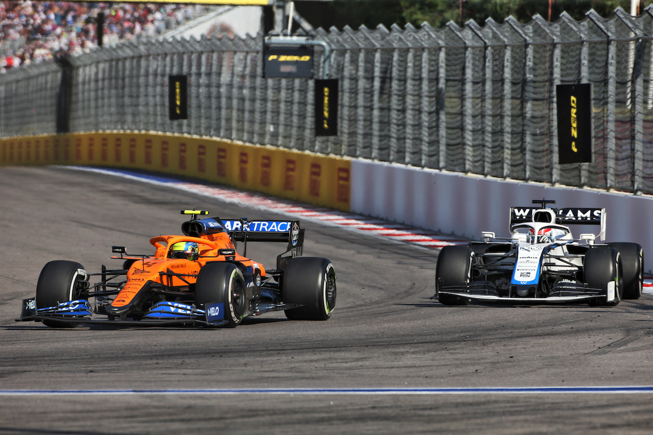
[[[114,246],[122,268],[89,274],[74,261],[50,261],[36,296],[23,301],[21,321],[50,327],[79,323],[236,327],[244,317],[272,310],[297,320],[327,320],[336,304],[336,273],[325,258],[300,257],[299,221],[220,219],[182,210],[191,220],[179,236],[150,239],[154,255]],[[236,243],[285,242],[275,269],[236,252]],[[91,283],[91,278],[99,282]]]

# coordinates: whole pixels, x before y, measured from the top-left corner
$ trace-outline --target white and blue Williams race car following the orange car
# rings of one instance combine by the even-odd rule
[[[642,294],[644,257],[636,243],[605,240],[605,208],[512,207],[509,238],[483,232],[483,242],[446,246],[438,256],[436,295],[445,305],[470,300],[585,301],[614,306]],[[600,225],[574,239],[567,225]]]

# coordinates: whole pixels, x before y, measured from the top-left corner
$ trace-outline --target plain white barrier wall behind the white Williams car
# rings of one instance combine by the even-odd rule
[[[512,206],[552,199],[555,206],[606,209],[606,242],[635,242],[653,268],[653,197],[552,187],[406,167],[365,159],[351,162],[351,211],[473,239],[481,231],[508,236]],[[572,227],[574,236],[599,227]]]

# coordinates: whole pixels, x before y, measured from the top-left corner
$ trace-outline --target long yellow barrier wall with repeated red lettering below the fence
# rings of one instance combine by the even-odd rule
[[[216,138],[131,132],[3,138],[0,164],[150,170],[349,211],[349,159]]]

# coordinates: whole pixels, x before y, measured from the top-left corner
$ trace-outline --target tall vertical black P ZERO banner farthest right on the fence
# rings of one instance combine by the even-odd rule
[[[592,85],[556,86],[560,165],[592,161]]]

